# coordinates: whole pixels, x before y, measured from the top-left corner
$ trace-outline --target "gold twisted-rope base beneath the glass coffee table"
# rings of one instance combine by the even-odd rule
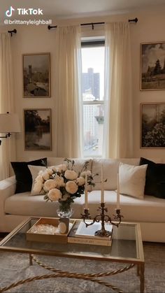
[[[82,280],[90,280],[94,283],[104,285],[104,286],[106,286],[116,292],[122,293],[123,291],[120,290],[119,288],[115,287],[114,285],[107,283],[107,282],[104,282],[102,280],[96,279],[96,278],[113,276],[113,275],[116,275],[117,273],[123,273],[124,271],[128,271],[129,269],[131,269],[135,266],[135,264],[129,264],[127,266],[124,266],[122,269],[116,269],[116,270],[107,271],[104,273],[73,273],[73,272],[71,273],[69,271],[62,271],[62,270],[55,269],[51,266],[45,265],[42,262],[40,262],[38,259],[36,259],[36,257],[34,257],[34,255],[29,255],[29,264],[30,265],[33,264],[33,262],[32,262],[33,260],[38,265],[42,266],[44,269],[48,269],[49,271],[52,271],[54,273],[41,275],[41,276],[34,276],[31,278],[20,280],[16,283],[12,283],[9,286],[0,288],[0,292],[5,292],[7,290],[10,290],[13,287],[17,287],[17,286],[23,285],[25,283],[30,283],[34,280],[43,280],[43,279],[48,279],[48,278],[76,278],[76,279],[82,279]],[[137,265],[137,273],[138,273],[138,275],[143,277],[143,274],[141,275],[141,271],[143,273],[143,268],[140,267],[139,265]],[[143,278],[141,278],[141,292],[143,292],[143,290],[144,290],[144,280],[143,280]]]

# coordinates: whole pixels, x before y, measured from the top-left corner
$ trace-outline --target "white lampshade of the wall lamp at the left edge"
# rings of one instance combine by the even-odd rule
[[[0,114],[0,133],[21,132],[20,121],[17,114]]]

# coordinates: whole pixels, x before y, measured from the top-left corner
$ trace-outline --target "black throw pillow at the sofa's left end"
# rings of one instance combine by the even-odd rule
[[[30,162],[10,162],[15,173],[16,190],[15,193],[29,192],[32,185],[31,172],[27,165],[47,166],[47,158],[36,159]]]

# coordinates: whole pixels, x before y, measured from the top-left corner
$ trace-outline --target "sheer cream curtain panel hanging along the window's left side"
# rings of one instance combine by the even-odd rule
[[[81,157],[80,27],[57,27],[55,34],[57,157]]]

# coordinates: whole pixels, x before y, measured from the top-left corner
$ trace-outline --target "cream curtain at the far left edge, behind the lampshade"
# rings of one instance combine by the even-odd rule
[[[0,34],[0,113],[13,113],[13,75],[10,52],[10,34]],[[4,136],[4,134],[0,134]],[[1,138],[0,180],[10,176],[10,161],[15,160],[15,134]]]

